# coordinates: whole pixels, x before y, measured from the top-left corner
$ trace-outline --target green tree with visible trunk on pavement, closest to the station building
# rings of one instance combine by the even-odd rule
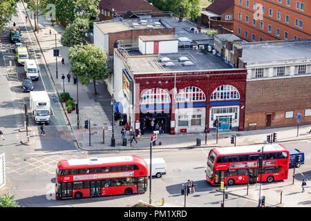
[[[96,81],[108,78],[110,73],[106,51],[94,44],[73,46],[69,48],[68,58],[73,66],[70,71],[76,73],[79,81],[85,86],[93,81],[93,94],[96,95]]]

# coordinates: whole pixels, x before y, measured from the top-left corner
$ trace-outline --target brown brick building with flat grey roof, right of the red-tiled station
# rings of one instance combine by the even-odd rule
[[[311,39],[232,47],[230,60],[247,69],[245,130],[311,124]]]

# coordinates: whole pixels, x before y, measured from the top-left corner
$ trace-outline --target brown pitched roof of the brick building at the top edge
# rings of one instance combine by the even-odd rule
[[[146,0],[102,0],[100,1],[99,6],[100,8],[110,10],[111,12],[127,12],[129,10],[135,11],[143,4],[150,6],[154,11],[160,11]]]

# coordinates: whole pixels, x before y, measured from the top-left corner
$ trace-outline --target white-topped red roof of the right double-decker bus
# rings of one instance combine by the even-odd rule
[[[211,149],[216,153],[216,155],[232,155],[232,154],[243,154],[243,153],[261,153],[261,145],[252,146],[231,146],[223,148],[213,148]],[[263,147],[263,152],[279,152],[288,151],[282,144],[266,144]]]

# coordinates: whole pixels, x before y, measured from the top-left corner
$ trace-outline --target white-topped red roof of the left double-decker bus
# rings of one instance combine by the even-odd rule
[[[86,159],[61,160],[58,162],[59,169],[84,169],[104,166],[122,166],[140,164],[147,167],[147,163],[141,157],[135,155],[122,157],[91,157]]]

